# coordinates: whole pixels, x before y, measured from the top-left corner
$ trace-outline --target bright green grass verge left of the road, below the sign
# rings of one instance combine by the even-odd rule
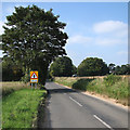
[[[2,128],[31,128],[46,90],[22,89],[2,99]]]

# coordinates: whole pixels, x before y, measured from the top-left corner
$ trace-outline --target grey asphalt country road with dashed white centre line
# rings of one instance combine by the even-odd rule
[[[128,110],[54,82],[49,90],[46,128],[128,128]]]

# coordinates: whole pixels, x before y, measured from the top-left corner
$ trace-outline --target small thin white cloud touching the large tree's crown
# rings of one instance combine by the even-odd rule
[[[86,36],[81,36],[81,35],[76,35],[73,36],[68,39],[68,43],[90,43],[92,41],[92,38],[90,37],[86,37]]]

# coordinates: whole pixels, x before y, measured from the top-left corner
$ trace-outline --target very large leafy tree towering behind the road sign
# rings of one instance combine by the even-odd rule
[[[65,23],[60,16],[36,5],[18,6],[6,16],[3,26],[2,50],[4,58],[11,58],[24,66],[24,73],[39,72],[39,81],[44,83],[50,63],[58,55],[66,54],[67,34],[63,32]]]

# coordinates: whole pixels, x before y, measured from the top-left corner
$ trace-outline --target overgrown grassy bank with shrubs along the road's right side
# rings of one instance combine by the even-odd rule
[[[128,102],[128,77],[107,76],[100,78],[56,77],[55,82],[73,89],[98,93],[115,99],[118,103],[130,105]]]

